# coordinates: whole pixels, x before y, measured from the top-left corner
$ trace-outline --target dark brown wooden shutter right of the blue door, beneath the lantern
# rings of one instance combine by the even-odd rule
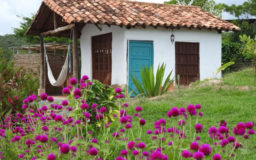
[[[180,84],[188,85],[200,79],[199,43],[175,42],[175,76]]]

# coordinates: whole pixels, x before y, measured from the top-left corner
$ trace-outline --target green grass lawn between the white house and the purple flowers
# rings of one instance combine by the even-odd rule
[[[208,128],[210,126],[218,127],[220,120],[226,120],[230,135],[232,136],[234,136],[232,129],[238,122],[256,121],[256,90],[253,88],[251,90],[238,90],[234,88],[235,86],[253,86],[254,70],[246,69],[231,73],[224,76],[222,80],[224,81],[224,85],[228,86],[225,89],[216,89],[216,86],[195,87],[188,90],[170,92],[154,101],[149,98],[134,98],[130,102],[131,107],[128,108],[128,114],[134,114],[134,108],[136,106],[142,106],[143,118],[147,120],[143,128],[143,132],[145,133],[146,130],[154,130],[153,123],[155,121],[160,118],[167,119],[166,113],[170,108],[174,106],[186,108],[188,104],[201,104],[201,111],[204,114],[204,117],[199,119],[199,123],[204,126],[201,134],[201,143],[212,144],[212,139],[208,136]],[[196,120],[193,120],[193,128],[195,123]],[[166,126],[166,128],[170,127],[170,125]],[[186,124],[186,127],[188,128],[189,124]],[[148,136],[143,135],[143,139],[147,140]],[[256,154],[253,154],[256,148],[255,136],[252,136],[251,144],[250,152],[252,154],[249,155],[249,159],[256,159]],[[237,160],[240,159],[242,158],[237,157]]]

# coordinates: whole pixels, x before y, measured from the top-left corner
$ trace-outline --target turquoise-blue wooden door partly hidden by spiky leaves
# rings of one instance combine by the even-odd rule
[[[150,41],[129,41],[129,78],[128,78],[128,86],[135,90],[135,92],[138,94],[138,90],[136,89],[134,83],[132,82],[132,76],[136,74],[138,80],[142,84],[142,79],[140,76],[140,66],[142,66],[144,70],[144,66],[147,65],[149,68],[150,64],[153,65],[154,62],[154,49],[153,49],[153,42]],[[128,92],[131,90],[128,89]],[[132,97],[135,96],[135,94],[131,95]]]

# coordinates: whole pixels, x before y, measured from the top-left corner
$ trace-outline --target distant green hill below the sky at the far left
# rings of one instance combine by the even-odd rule
[[[4,36],[0,35],[0,48],[7,49],[8,47],[17,47],[27,45],[23,38],[15,37],[11,34],[6,34]]]

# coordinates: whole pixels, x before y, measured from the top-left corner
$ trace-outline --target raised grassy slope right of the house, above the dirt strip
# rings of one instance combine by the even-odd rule
[[[229,73],[222,80],[229,86],[254,86],[254,68]]]

